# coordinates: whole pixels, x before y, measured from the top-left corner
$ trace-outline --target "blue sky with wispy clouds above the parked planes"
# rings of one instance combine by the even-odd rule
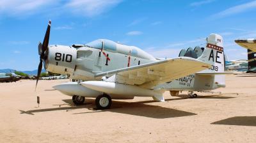
[[[1,0],[0,69],[37,68],[49,19],[50,45],[106,38],[155,57],[177,57],[218,33],[229,59],[246,59],[234,40],[256,37],[255,13],[256,1],[249,0]]]

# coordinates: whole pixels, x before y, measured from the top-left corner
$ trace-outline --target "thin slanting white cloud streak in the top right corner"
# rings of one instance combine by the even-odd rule
[[[251,1],[249,3],[244,3],[244,4],[240,4],[240,5],[228,8],[227,10],[221,11],[220,13],[217,13],[212,17],[214,18],[227,17],[229,15],[234,15],[237,13],[242,13],[244,11],[252,10],[253,8],[256,8],[256,1]]]

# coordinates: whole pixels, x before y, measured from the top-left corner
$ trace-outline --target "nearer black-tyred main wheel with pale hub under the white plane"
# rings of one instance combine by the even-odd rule
[[[95,100],[97,109],[109,109],[111,107],[112,101],[108,94],[102,94],[97,96]]]

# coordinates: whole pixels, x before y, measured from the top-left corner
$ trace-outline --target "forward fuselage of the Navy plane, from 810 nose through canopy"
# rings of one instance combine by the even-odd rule
[[[93,75],[96,73],[158,60],[138,47],[100,39],[72,47],[50,46],[45,68],[49,72],[68,74],[71,79],[95,80]]]

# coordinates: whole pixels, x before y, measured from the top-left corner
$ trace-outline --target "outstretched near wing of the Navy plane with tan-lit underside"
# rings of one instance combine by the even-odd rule
[[[210,64],[199,61],[198,59],[179,57],[99,73],[95,75],[95,77],[115,74],[115,76],[110,77],[108,81],[150,89],[158,84],[163,84],[210,67]]]

